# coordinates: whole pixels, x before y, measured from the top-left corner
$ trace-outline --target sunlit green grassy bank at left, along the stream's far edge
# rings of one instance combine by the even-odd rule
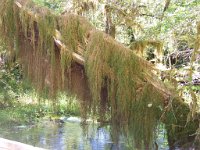
[[[19,99],[19,103],[17,105],[0,110],[0,126],[7,124],[34,124],[48,116],[59,117],[80,115],[79,104],[75,97],[61,95],[56,111],[49,103],[44,102],[42,104],[38,104],[34,101],[34,98],[28,96],[26,98],[29,98],[29,104],[23,104],[25,98],[21,98]]]

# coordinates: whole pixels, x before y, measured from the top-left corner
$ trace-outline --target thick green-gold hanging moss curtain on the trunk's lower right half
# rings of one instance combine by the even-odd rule
[[[146,78],[153,75],[150,64],[99,31],[91,33],[87,46],[86,71],[94,100],[93,112],[101,112],[101,90],[106,86],[110,119],[122,127],[130,123],[135,139],[140,137],[149,145],[164,99]]]

